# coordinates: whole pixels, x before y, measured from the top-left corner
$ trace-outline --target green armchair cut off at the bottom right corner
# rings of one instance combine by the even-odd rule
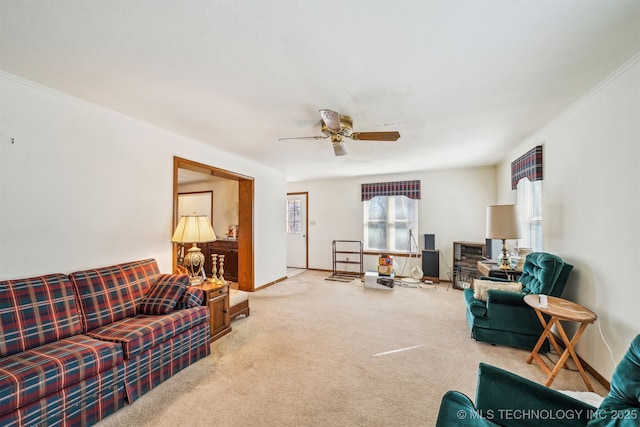
[[[495,366],[480,364],[475,404],[448,391],[437,427],[640,425],[640,335],[611,378],[611,391],[598,408]]]

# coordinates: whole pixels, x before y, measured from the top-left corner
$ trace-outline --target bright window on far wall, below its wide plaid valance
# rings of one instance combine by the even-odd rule
[[[406,196],[376,196],[363,202],[364,250],[417,253],[418,200]],[[410,235],[411,247],[409,246]]]

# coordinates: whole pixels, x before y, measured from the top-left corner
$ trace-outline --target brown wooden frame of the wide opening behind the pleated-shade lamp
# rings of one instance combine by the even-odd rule
[[[173,157],[173,230],[178,225],[178,169],[188,169],[205,175],[238,181],[238,289],[255,290],[253,256],[254,179],[193,160]],[[177,244],[173,245],[173,271],[177,266]]]

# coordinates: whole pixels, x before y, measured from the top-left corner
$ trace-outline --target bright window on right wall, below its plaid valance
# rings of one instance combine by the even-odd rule
[[[518,181],[518,212],[520,214],[520,235],[518,246],[542,250],[542,181]]]

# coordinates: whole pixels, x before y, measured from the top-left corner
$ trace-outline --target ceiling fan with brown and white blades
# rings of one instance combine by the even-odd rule
[[[322,117],[321,136],[300,136],[293,138],[279,138],[279,141],[288,139],[326,139],[331,138],[333,152],[336,156],[344,156],[347,149],[343,138],[354,141],[397,141],[400,133],[392,132],[354,132],[353,119],[349,116],[336,113],[332,110],[319,110]]]

